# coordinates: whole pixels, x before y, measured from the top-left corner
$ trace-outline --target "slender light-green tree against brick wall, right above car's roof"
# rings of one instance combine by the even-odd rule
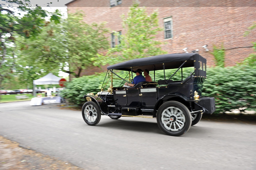
[[[162,42],[153,40],[154,35],[162,30],[158,27],[157,16],[156,11],[148,15],[145,7],[138,7],[137,3],[133,4],[127,17],[122,15],[122,31],[125,34],[115,33],[115,37],[119,37],[121,43],[109,49],[105,56],[98,55],[97,58],[93,58],[94,65],[114,64],[127,59],[165,54],[166,51],[159,47]]]

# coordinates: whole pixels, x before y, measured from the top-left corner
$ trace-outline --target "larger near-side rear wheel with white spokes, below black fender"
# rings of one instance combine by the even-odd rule
[[[178,101],[167,101],[157,111],[157,124],[166,134],[180,136],[191,127],[191,114],[188,108]]]

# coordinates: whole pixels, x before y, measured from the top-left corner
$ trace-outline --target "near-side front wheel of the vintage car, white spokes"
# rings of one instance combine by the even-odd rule
[[[82,107],[83,120],[91,125],[95,126],[99,123],[101,118],[101,111],[97,103],[93,101],[87,101]]]

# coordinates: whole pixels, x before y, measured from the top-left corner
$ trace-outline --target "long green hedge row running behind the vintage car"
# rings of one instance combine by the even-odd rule
[[[185,76],[189,76],[189,73],[190,70],[183,70]],[[158,72],[156,75],[155,80],[164,79],[161,72]],[[180,75],[181,73],[178,72],[172,80],[178,80]],[[81,106],[85,102],[83,95],[91,92],[97,94],[101,89],[104,79],[105,73],[74,78],[67,84],[63,95],[69,99],[69,102]],[[106,81],[108,81],[108,78]],[[119,81],[119,83],[123,82]],[[109,84],[106,89],[108,87]],[[203,95],[215,97],[215,113],[243,107],[246,107],[247,110],[256,110],[256,67],[207,68],[207,79],[203,86]]]

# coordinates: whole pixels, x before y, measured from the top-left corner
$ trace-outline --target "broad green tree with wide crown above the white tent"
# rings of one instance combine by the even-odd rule
[[[104,36],[108,29],[104,23],[86,24],[83,17],[80,11],[69,14],[58,25],[48,22],[37,39],[21,39],[17,50],[22,56],[18,62],[22,66],[19,70],[24,72],[29,66],[34,74],[57,74],[61,70],[80,77],[82,70],[92,65],[90,59],[108,48]]]

